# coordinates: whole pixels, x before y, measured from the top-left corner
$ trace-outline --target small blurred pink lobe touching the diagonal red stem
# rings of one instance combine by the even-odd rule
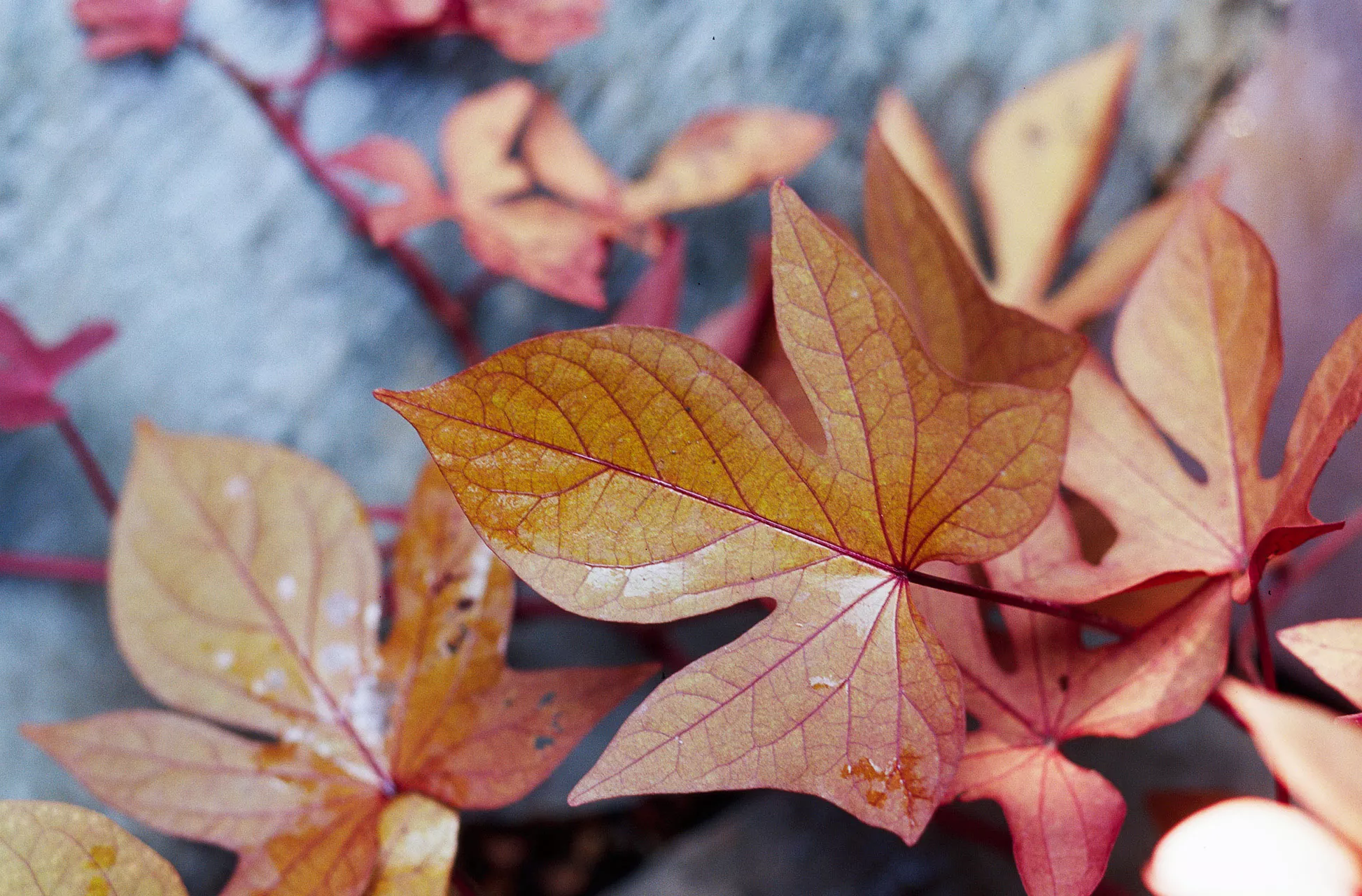
[[[402,189],[399,202],[368,208],[369,237],[377,245],[391,245],[406,231],[451,215],[449,200],[425,155],[406,140],[381,135],[365,138],[328,161]]]

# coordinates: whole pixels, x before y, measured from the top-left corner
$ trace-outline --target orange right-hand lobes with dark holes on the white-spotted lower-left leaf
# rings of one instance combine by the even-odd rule
[[[390,753],[403,787],[494,809],[537,787],[655,666],[505,669],[513,579],[478,539],[439,470],[417,483],[394,551]]]

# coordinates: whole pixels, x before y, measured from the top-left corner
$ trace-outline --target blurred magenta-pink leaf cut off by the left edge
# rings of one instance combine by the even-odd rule
[[[67,409],[52,395],[57,381],[113,339],[113,324],[83,324],[60,345],[38,345],[0,305],[0,432],[54,423]]]

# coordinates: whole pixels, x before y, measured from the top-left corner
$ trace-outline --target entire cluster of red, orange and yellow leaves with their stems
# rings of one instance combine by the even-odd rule
[[[567,611],[636,625],[768,610],[707,656],[663,650],[669,675],[573,802],[776,787],[913,843],[943,803],[992,799],[1027,892],[1087,896],[1125,802],[1060,746],[1136,737],[1209,701],[1252,734],[1279,802],[1192,814],[1147,885],[1362,892],[1362,733],[1276,693],[1261,599],[1293,551],[1346,537],[1309,502],[1362,413],[1362,323],[1321,362],[1282,468],[1264,477],[1282,369],[1275,271],[1214,182],[1139,211],[1056,289],[1133,44],[990,118],[972,169],[987,252],[911,106],[885,94],[865,150],[866,260],[782,180],[832,138],[805,113],[701,117],[633,181],[519,79],[449,113],[443,184],[400,140],[321,158],[301,133],[289,97],[350,56],[471,33],[539,60],[594,29],[597,0],[327,0],[328,42],[281,83],[185,34],[184,7],[78,0],[75,12],[91,56],[184,45],[218,61],[477,364],[379,392],[434,462],[405,511],[366,512],[282,448],[150,423],[114,498],[52,395],[112,327],[48,349],[0,316],[0,426],[63,428],[114,515],[120,650],[178,711],[26,729],[95,797],[238,852],[233,896],[463,886],[451,884],[459,810],[526,795],[658,669],[508,669],[519,577]],[[402,197],[366,203],[354,174]],[[772,181],[745,300],[676,332],[685,240],[666,215]],[[440,219],[489,276],[602,310],[609,252],[654,261],[613,325],[482,359],[467,304],[485,286],[451,295],[405,241]],[[1117,305],[1109,364],[1079,330]],[[400,520],[387,575],[372,516]],[[1226,674],[1234,602],[1257,639],[1257,665],[1237,670],[1249,682]],[[1362,620],[1280,639],[1362,704]],[[0,846],[7,892],[183,892],[82,809],[7,803]]]

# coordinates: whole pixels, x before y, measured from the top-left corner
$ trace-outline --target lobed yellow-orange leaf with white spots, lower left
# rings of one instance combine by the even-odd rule
[[[407,519],[380,647],[377,550],[335,474],[142,423],[112,539],[120,650],[170,705],[274,739],[158,711],[25,735],[118,810],[237,851],[227,896],[411,892],[452,859],[455,809],[527,794],[654,669],[505,669],[509,571],[433,468]]]

